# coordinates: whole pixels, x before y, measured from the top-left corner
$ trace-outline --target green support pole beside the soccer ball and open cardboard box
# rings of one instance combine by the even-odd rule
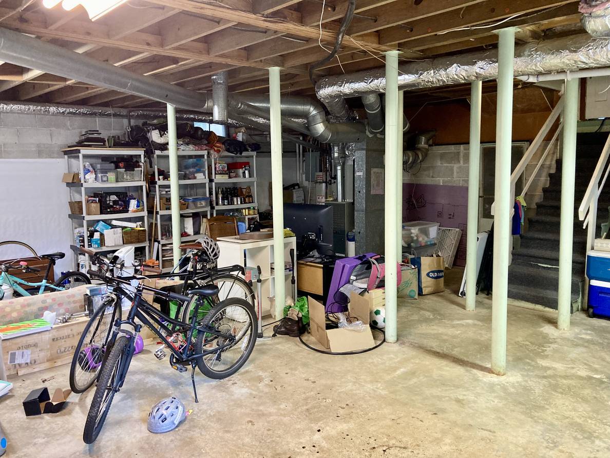
[[[398,51],[386,53],[386,341],[397,341]],[[401,169],[402,170],[402,169]]]

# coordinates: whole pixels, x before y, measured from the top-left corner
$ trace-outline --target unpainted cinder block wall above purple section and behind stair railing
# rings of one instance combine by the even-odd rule
[[[544,154],[547,145],[548,142],[543,142],[539,150],[534,153],[532,161],[525,169],[525,183],[536,169],[536,164]],[[432,147],[421,169],[416,165],[411,173],[403,174],[403,183],[468,186],[468,164],[470,163],[468,151],[468,145]],[[548,186],[548,175],[555,171],[556,159],[557,147],[555,146],[545,158],[529,187],[526,202],[530,208],[535,208],[536,203],[542,200],[542,189]]]

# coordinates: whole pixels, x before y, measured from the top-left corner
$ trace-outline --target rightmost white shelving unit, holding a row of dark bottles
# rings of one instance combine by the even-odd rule
[[[218,162],[249,162],[251,176],[249,178],[216,178],[216,164]],[[246,225],[249,224],[250,220],[258,219],[258,199],[256,189],[256,153],[254,151],[246,151],[243,154],[235,155],[231,153],[223,153],[220,158],[212,159],[212,203],[214,206],[214,216],[222,215],[227,211],[241,210],[241,209],[256,209],[254,215],[240,215],[238,219],[245,220]],[[234,187],[234,186],[250,186],[252,195],[254,197],[253,203],[244,203],[241,205],[217,205],[217,190],[222,187]]]

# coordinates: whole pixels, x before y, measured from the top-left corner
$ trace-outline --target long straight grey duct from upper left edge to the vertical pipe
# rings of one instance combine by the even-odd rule
[[[0,60],[162,103],[171,103],[180,108],[212,111],[212,97],[207,93],[193,92],[150,76],[137,75],[124,68],[1,27]]]

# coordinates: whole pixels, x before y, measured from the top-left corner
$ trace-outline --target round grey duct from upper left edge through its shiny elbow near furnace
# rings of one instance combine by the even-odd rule
[[[150,76],[137,75],[123,68],[2,27],[0,27],[0,60],[107,89],[170,103],[178,108],[206,113],[213,111],[213,97],[210,93],[195,92]],[[228,98],[227,106],[235,112],[246,112],[268,118],[269,101],[268,98],[265,100],[267,108],[264,110],[253,110],[254,107],[248,107],[247,103],[240,103],[240,100],[234,97]],[[284,103],[282,100],[281,108],[284,114],[307,118],[309,129],[286,119],[282,120],[284,126],[294,128],[306,135],[312,135],[320,142],[357,142],[364,135],[362,123],[331,125],[326,120],[323,108],[311,100],[303,99],[296,105],[290,102]]]

